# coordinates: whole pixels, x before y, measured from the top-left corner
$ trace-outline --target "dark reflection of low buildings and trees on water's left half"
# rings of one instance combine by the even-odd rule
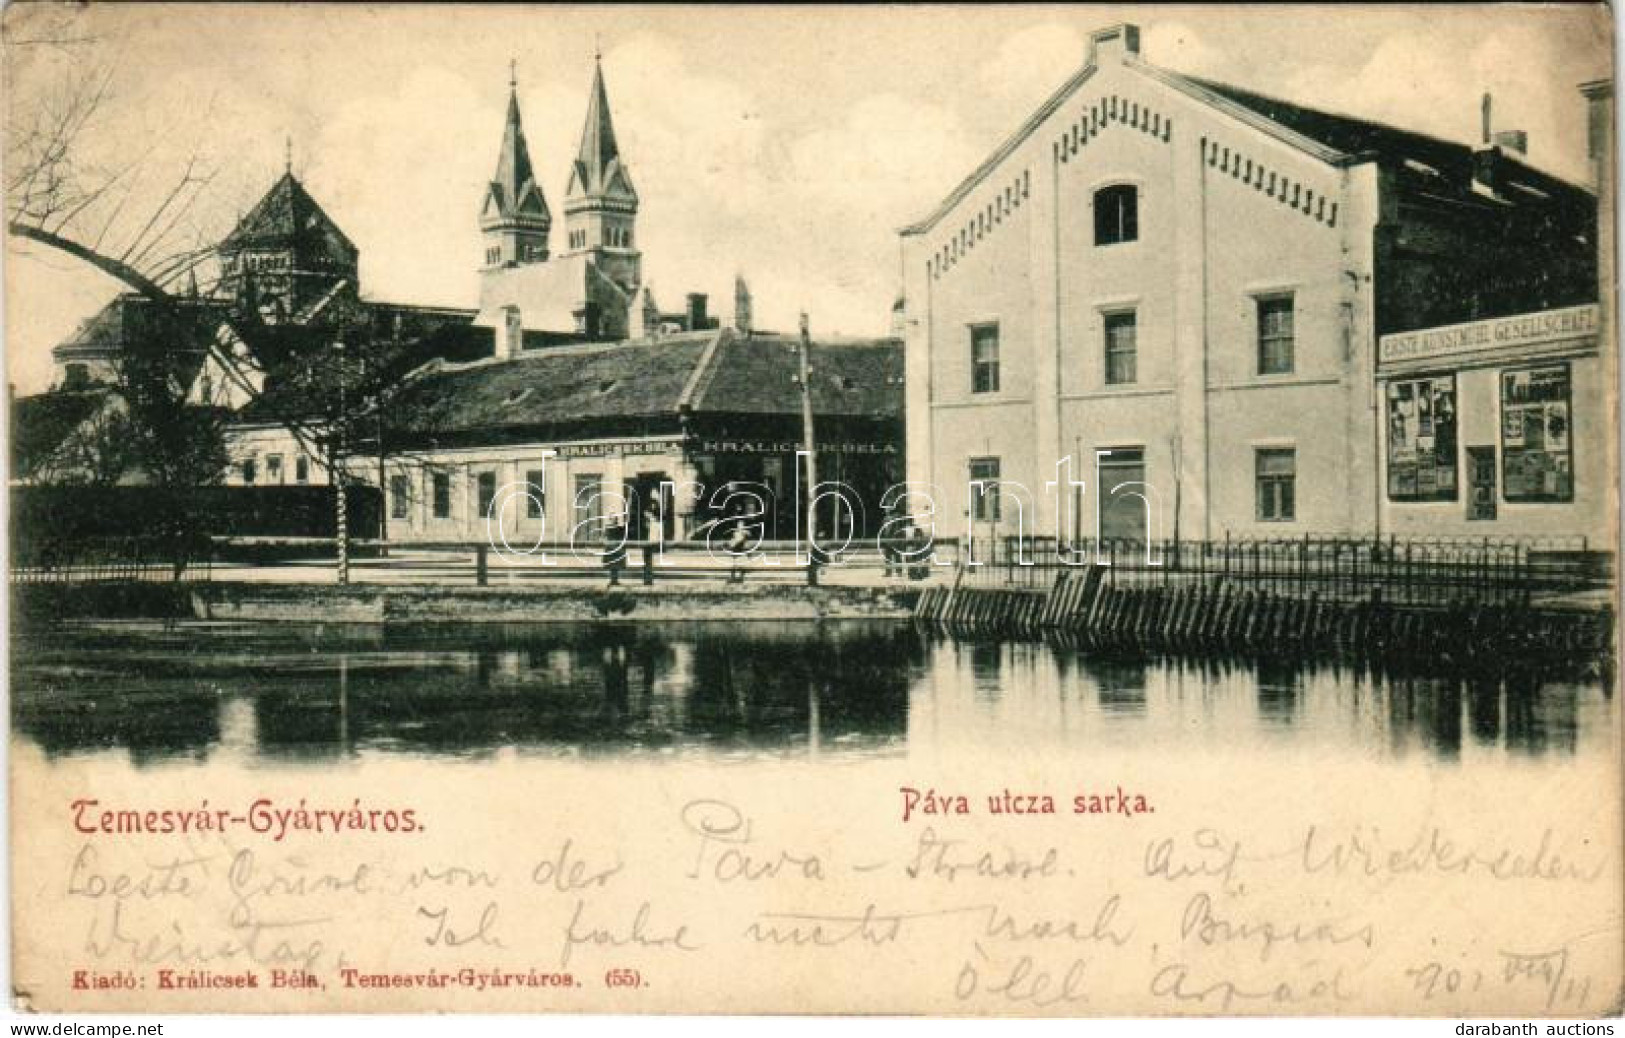
[[[124,749],[138,763],[509,747],[886,752],[900,749],[920,653],[895,624],[392,629],[359,648],[283,629],[252,666],[223,632],[193,637],[169,647],[172,674],[143,677],[153,690],[114,677],[140,671],[125,666],[143,655],[125,637],[88,632],[20,655],[18,729],[49,754]],[[83,679],[86,660],[106,664],[106,681]],[[81,671],[72,687],[52,679],[67,661]]]

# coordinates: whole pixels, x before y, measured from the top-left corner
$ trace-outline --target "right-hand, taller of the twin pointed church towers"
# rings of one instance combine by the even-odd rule
[[[564,197],[564,255],[592,255],[595,265],[630,297],[642,281],[635,224],[637,192],[616,145],[603,62],[595,58],[582,146],[570,166],[570,187]]]

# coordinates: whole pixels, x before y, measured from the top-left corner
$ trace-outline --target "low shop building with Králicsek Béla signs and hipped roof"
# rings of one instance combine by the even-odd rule
[[[606,515],[650,533],[653,505],[666,539],[741,508],[788,539],[806,494],[800,349],[718,328],[434,362],[390,404],[388,538],[596,546]],[[902,343],[817,341],[811,370],[817,478],[850,487],[852,530],[873,534],[902,479]],[[356,450],[366,473],[375,448]]]

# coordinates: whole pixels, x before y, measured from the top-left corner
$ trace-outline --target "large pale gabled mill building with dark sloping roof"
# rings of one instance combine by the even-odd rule
[[[1082,57],[902,231],[908,474],[941,536],[1388,533],[1378,340],[1597,297],[1596,198],[1521,135],[1196,80],[1131,24]]]

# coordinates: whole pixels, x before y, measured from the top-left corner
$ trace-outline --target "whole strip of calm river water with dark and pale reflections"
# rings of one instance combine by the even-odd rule
[[[1095,656],[905,624],[98,625],[13,642],[13,724],[136,765],[366,754],[1610,752],[1609,689]]]

